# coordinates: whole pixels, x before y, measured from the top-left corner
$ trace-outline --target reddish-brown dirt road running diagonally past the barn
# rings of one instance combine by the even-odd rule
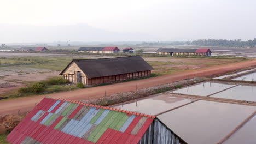
[[[187,71],[184,73],[152,77],[149,79],[142,79],[142,80],[130,81],[130,82],[124,82],[124,83],[115,83],[113,85],[92,87],[92,88],[86,88],[86,89],[79,89],[76,91],[40,95],[36,97],[24,97],[24,98],[18,98],[13,100],[1,100],[0,116],[7,115],[9,113],[17,113],[19,110],[20,112],[30,111],[31,109],[33,109],[35,103],[39,103],[40,100],[42,100],[46,96],[50,96],[53,98],[64,98],[64,99],[70,99],[70,100],[94,99],[94,98],[104,97],[105,90],[107,92],[107,96],[109,96],[114,93],[135,91],[136,85],[138,89],[142,89],[142,88],[153,87],[153,86],[161,85],[164,83],[170,83],[173,81],[179,81],[179,80],[193,78],[193,77],[204,77],[204,76],[211,76],[214,74],[223,74],[228,71],[242,69],[250,66],[256,66],[256,59],[252,61],[241,62],[241,63],[217,65],[214,67],[195,69],[195,70]]]

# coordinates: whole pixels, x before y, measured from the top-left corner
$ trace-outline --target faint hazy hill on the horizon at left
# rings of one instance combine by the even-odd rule
[[[32,26],[0,24],[0,43],[38,43],[52,41],[147,41],[157,39],[145,33],[118,33],[86,24]]]

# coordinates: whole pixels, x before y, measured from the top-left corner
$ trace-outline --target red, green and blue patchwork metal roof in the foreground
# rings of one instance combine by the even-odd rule
[[[44,98],[8,135],[11,143],[138,143],[155,116]]]

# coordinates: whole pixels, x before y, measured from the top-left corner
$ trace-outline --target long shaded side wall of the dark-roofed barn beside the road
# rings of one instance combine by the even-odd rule
[[[88,79],[87,85],[98,85],[101,83],[119,82],[119,81],[128,80],[128,79],[137,79],[140,77],[147,77],[150,75],[151,75],[151,70],[139,71],[137,73],[96,77],[96,78],[92,78],[92,79],[87,78]]]

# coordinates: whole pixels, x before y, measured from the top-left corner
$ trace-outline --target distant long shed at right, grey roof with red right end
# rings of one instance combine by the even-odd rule
[[[211,56],[210,49],[177,49],[177,48],[159,48],[159,55],[196,55],[196,56]]]

